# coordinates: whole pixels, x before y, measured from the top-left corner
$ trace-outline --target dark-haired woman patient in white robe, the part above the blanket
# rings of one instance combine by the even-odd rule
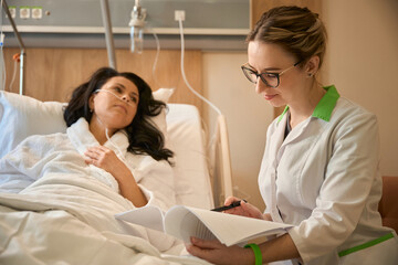
[[[0,160],[0,190],[12,190],[18,180],[13,191],[20,192],[48,174],[67,173],[69,178],[96,179],[135,206],[146,205],[153,198],[150,189],[163,187],[157,201],[161,208],[172,205],[172,152],[149,120],[164,107],[137,75],[97,70],[73,92],[64,112],[66,134],[29,137]],[[145,181],[143,163],[156,165],[164,173]]]

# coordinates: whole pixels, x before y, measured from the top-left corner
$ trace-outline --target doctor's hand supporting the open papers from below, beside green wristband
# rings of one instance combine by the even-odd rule
[[[243,248],[237,245],[226,246],[217,240],[205,241],[191,237],[191,244],[187,244],[186,248],[191,255],[213,264],[254,264],[254,254],[251,248]]]

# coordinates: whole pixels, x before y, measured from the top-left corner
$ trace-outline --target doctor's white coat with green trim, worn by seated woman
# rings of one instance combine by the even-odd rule
[[[296,225],[289,233],[300,262],[398,264],[395,233],[391,240],[338,257],[341,251],[392,231],[381,226],[377,211],[381,178],[376,116],[339,97],[328,121],[311,116],[284,139],[287,115],[268,129],[259,187],[273,221]]]

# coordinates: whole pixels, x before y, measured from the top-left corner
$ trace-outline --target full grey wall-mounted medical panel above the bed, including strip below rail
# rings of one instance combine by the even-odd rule
[[[101,0],[7,0],[27,46],[104,47]],[[108,0],[116,47],[128,47],[128,23],[134,0]],[[140,0],[146,9],[144,49],[155,47],[153,32],[164,49],[179,47],[175,11],[185,11],[187,49],[242,50],[250,30],[250,0]],[[2,13],[4,45],[18,46]]]

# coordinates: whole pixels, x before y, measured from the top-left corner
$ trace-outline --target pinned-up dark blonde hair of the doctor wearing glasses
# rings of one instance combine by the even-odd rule
[[[277,7],[262,14],[247,41],[281,45],[296,56],[301,66],[313,55],[320,67],[326,52],[326,29],[317,13],[307,8]]]

